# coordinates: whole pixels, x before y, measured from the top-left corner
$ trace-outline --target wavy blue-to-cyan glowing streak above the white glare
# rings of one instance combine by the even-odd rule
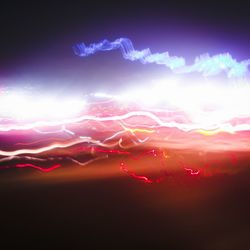
[[[170,56],[168,52],[151,53],[149,48],[135,50],[133,43],[128,38],[118,38],[113,42],[103,40],[86,46],[79,43],[73,46],[74,53],[81,57],[95,54],[98,51],[110,51],[120,49],[124,59],[130,61],[139,60],[141,63],[156,63],[165,65],[174,73],[202,73],[203,76],[218,75],[225,72],[227,77],[244,77],[248,72],[250,60],[238,62],[229,53],[210,56],[209,54],[196,57],[192,65],[186,65],[183,57]]]

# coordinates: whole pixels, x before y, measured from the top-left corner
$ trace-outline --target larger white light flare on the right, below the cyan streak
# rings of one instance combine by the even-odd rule
[[[115,96],[118,101],[136,103],[144,108],[184,112],[200,127],[214,127],[234,118],[250,117],[250,84],[221,83],[186,78],[158,80],[145,87],[129,89]]]

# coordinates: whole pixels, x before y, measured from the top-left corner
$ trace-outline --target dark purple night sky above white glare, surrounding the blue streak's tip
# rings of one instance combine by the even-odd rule
[[[31,83],[44,91],[48,85],[59,92],[69,87],[90,91],[93,86],[109,90],[115,83],[141,81],[139,74],[167,72],[124,63],[118,53],[77,58],[72,46],[82,41],[128,37],[138,49],[169,51],[188,63],[206,52],[250,58],[248,8],[238,1],[14,2],[1,7],[0,23],[2,84]],[[114,67],[117,74],[112,75]]]

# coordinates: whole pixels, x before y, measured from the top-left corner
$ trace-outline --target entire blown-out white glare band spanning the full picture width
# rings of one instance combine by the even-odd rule
[[[118,94],[96,92],[90,97],[94,97],[96,102],[87,102],[88,97],[61,96],[55,98],[53,96],[30,96],[20,91],[6,92],[0,96],[0,118],[1,121],[10,119],[14,123],[21,121],[29,125],[27,129],[34,129],[46,125],[62,126],[86,119],[121,120],[126,117],[126,109],[124,109],[125,113],[117,118],[116,112],[119,107],[130,107],[127,109],[129,110],[128,115],[131,113],[138,116],[145,111],[147,116],[157,117],[157,112],[160,111],[161,118],[157,117],[161,120],[159,125],[164,124],[164,126],[176,127],[185,131],[193,129],[224,130],[225,128],[231,131],[236,126],[231,123],[233,119],[247,118],[250,120],[250,84],[244,80],[226,84],[206,79],[198,82],[191,78],[176,77],[155,80],[152,83],[145,81],[143,86],[130,87],[127,91]],[[113,106],[114,110],[108,110],[103,99],[112,100],[118,109],[116,110]],[[88,113],[88,107],[98,103],[106,110],[104,115],[106,118],[101,118],[102,115],[99,111],[98,114]],[[133,104],[136,105],[133,106]],[[185,119],[182,119],[182,122],[171,121],[171,117],[174,116],[169,115],[169,112],[181,112]],[[6,128],[4,123],[2,125],[4,131],[12,128],[8,126]],[[237,126],[239,127],[239,123]],[[245,130],[245,127],[248,129],[249,126],[249,121],[247,124],[240,122],[240,130]]]

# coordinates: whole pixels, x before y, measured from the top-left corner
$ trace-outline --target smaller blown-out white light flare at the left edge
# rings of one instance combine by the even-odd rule
[[[57,121],[73,118],[85,107],[86,101],[76,97],[31,96],[18,91],[0,96],[1,120]]]

